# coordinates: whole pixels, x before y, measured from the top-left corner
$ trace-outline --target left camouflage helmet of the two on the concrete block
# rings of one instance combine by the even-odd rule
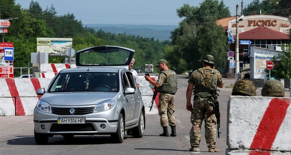
[[[256,96],[256,86],[253,81],[241,79],[235,82],[231,95]]]

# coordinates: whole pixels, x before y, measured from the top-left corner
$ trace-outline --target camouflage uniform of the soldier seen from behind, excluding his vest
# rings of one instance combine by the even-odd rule
[[[211,56],[212,57],[212,56]],[[212,57],[213,58],[213,57]],[[214,58],[213,58],[214,60]],[[213,62],[214,64],[214,62]],[[215,69],[210,69],[207,67],[202,68],[207,79],[209,80],[210,87],[212,89],[217,89],[217,85],[224,84],[224,81],[219,73]],[[201,125],[203,120],[205,121],[205,139],[208,148],[216,149],[216,117],[215,114],[208,116],[207,114],[213,110],[213,103],[217,98],[214,97],[198,97],[195,94],[199,92],[195,91],[199,87],[208,87],[204,78],[201,76],[201,72],[195,70],[188,83],[194,85],[194,104],[191,112],[191,123],[192,128],[190,130],[190,144],[192,147],[199,147],[201,139]],[[212,152],[212,151],[211,151]],[[214,151],[218,152],[218,151]]]

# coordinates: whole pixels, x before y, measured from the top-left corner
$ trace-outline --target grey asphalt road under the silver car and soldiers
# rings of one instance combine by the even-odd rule
[[[47,145],[37,145],[33,136],[32,116],[0,117],[0,155],[225,155],[227,102],[233,79],[225,79],[224,88],[220,89],[221,124],[220,139],[217,139],[219,153],[209,153],[202,127],[200,152],[189,152],[189,131],[191,128],[190,111],[186,110],[186,89],[188,78],[178,76],[178,92],[175,99],[175,117],[177,137],[160,137],[162,127],[159,115],[146,115],[146,130],[143,138],[129,136],[121,144],[115,144],[110,136],[75,136],[64,140],[62,136],[49,138]],[[257,90],[260,94],[260,90]],[[288,92],[289,95],[289,92]],[[204,124],[203,124],[204,125]],[[170,127],[169,127],[170,130]]]

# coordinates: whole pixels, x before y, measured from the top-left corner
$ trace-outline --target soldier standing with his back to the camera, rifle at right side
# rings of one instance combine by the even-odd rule
[[[219,152],[216,147],[216,117],[208,115],[214,109],[217,100],[217,87],[222,88],[224,80],[218,70],[214,69],[214,57],[207,55],[202,60],[203,68],[195,70],[188,80],[186,92],[186,109],[191,111],[192,128],[190,130],[189,151],[197,152],[201,139],[201,125],[205,121],[205,139],[209,152]],[[191,104],[192,92],[194,104]]]

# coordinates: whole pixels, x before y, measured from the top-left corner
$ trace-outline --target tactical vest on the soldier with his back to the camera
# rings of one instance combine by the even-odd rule
[[[211,74],[211,77],[210,77],[210,80],[209,79],[205,79],[203,78],[203,75],[202,75],[202,72],[200,71],[203,70],[203,72],[205,70],[207,70],[208,72],[210,72]],[[215,88],[210,88],[214,82],[214,75],[217,73],[217,70],[215,69],[202,69],[200,68],[198,69],[198,72],[200,73],[200,76],[199,76],[199,86],[195,86],[194,88],[194,96],[195,97],[201,97],[201,98],[207,98],[207,97],[214,97],[214,98],[217,98],[217,86],[215,85]],[[205,73],[204,73],[205,75]],[[206,76],[206,75],[205,75]],[[210,86],[207,85],[207,82],[205,80],[209,80],[208,83]],[[205,81],[205,85],[202,85],[202,81]]]

